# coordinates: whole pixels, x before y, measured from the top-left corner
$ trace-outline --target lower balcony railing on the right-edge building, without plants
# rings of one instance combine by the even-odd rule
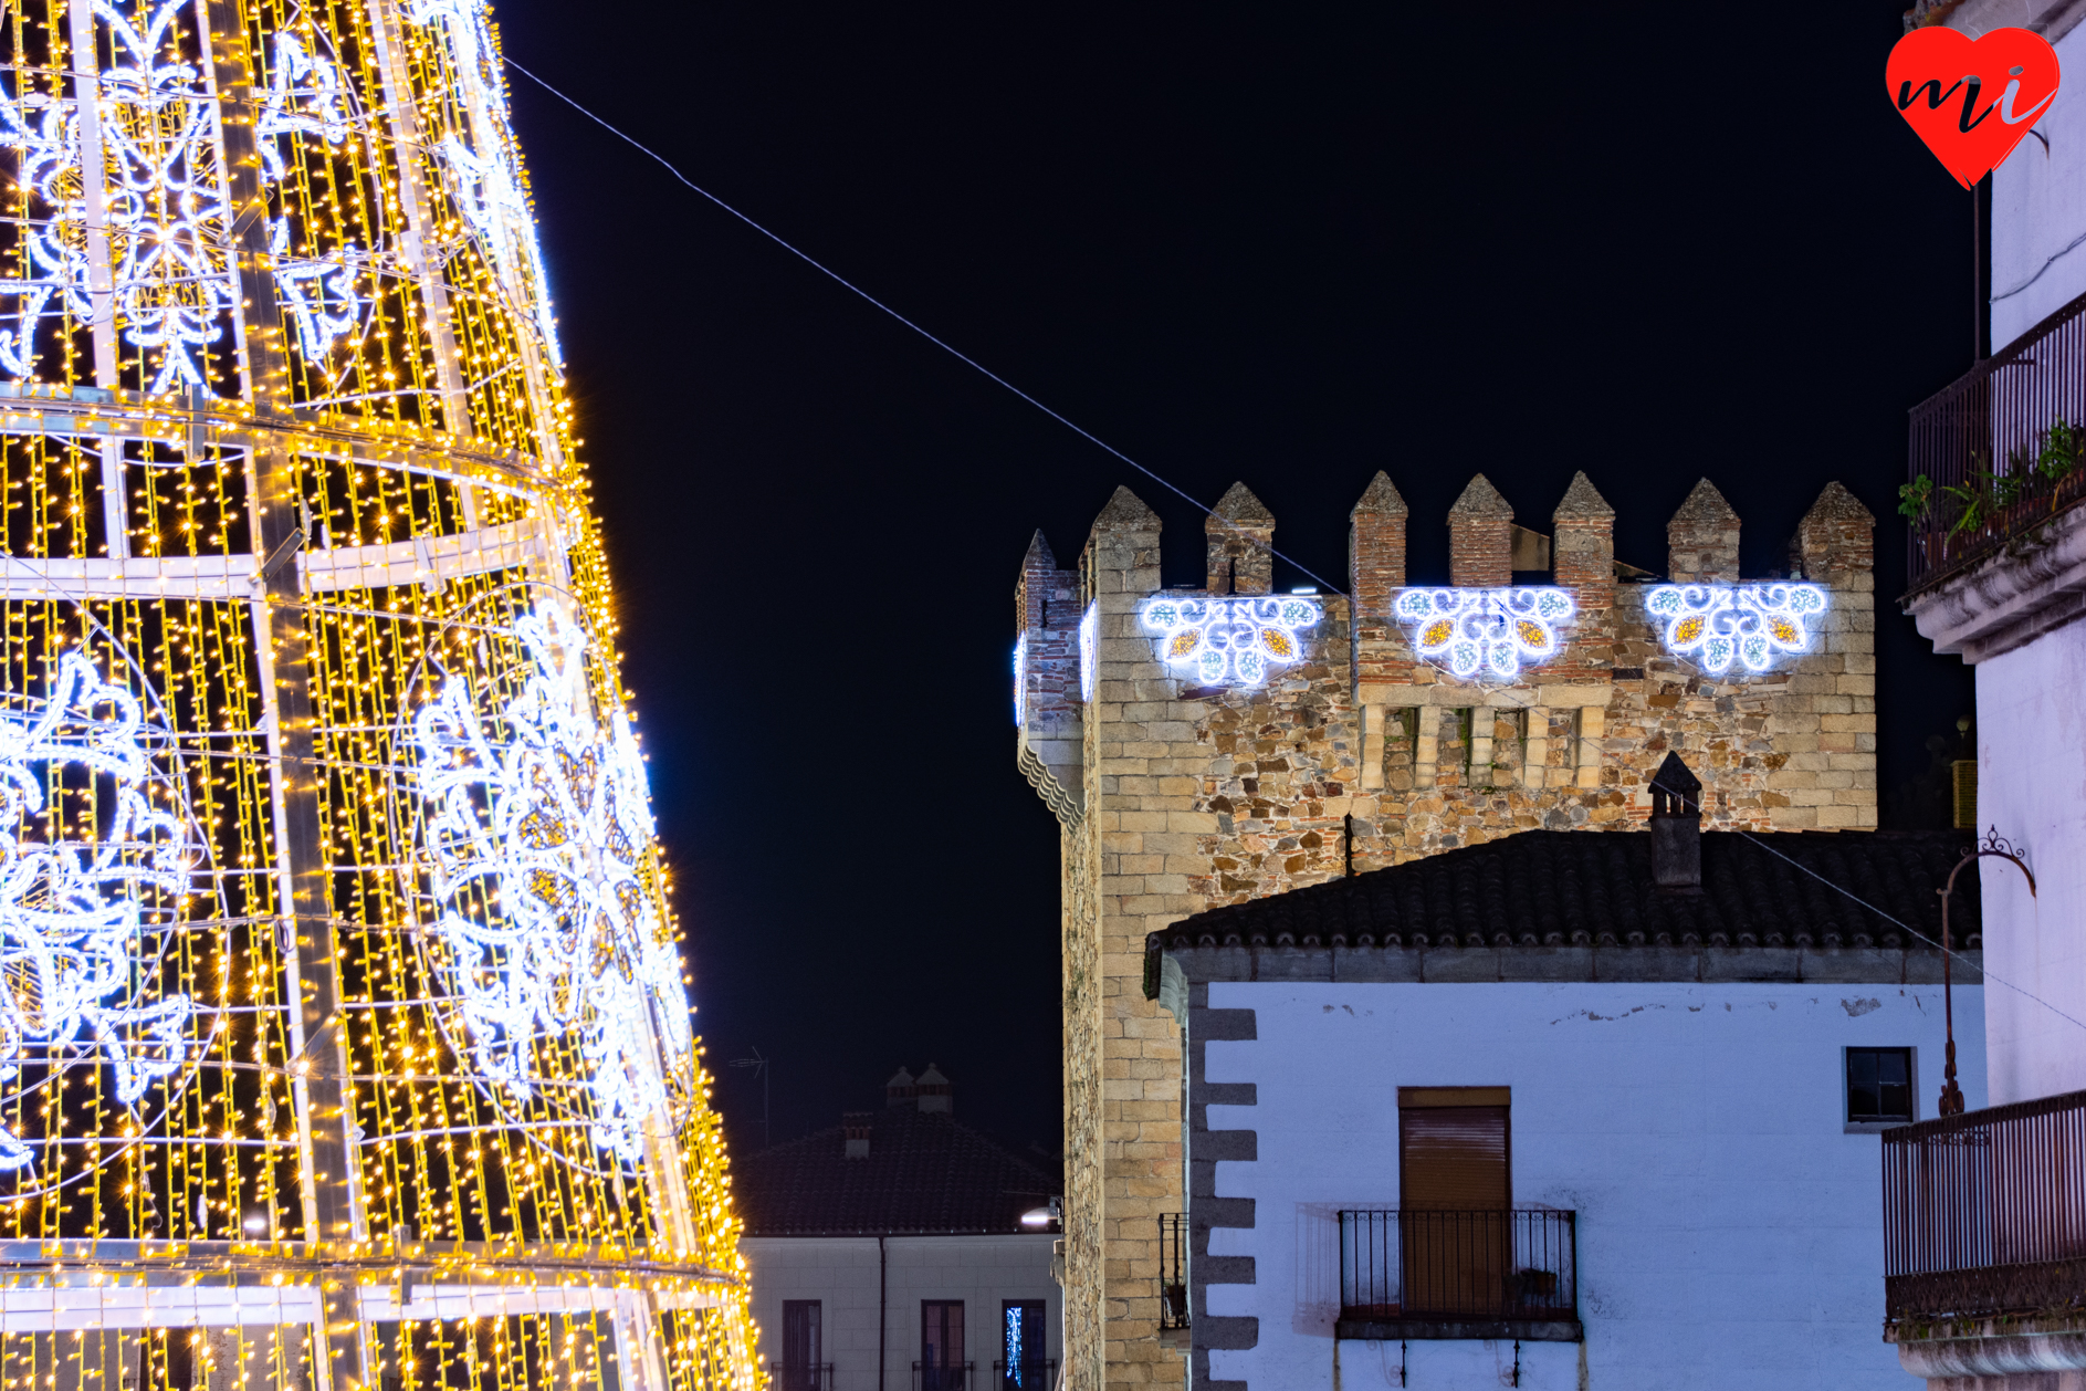
[[[2086,1091],[1884,1130],[1892,1318],[2086,1301]]]

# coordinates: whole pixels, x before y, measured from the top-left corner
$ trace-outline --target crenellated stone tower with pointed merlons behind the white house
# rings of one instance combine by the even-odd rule
[[[1790,578],[1827,590],[1811,651],[1711,678],[1663,651],[1644,584],[1619,582],[1615,509],[1571,480],[1552,582],[1569,644],[1510,684],[1418,661],[1391,621],[1408,509],[1377,473],[1356,503],[1350,596],[1320,594],[1300,661],[1260,686],[1197,686],[1139,619],[1160,592],[1160,519],[1118,488],[1076,569],[1037,536],[1016,590],[1018,759],[1064,853],[1064,1366],[1074,1391],[1181,1385],[1160,1337],[1160,1222],[1185,1212],[1183,1043],[1143,997],[1145,932],[1517,830],[1635,828],[1669,751],[1717,828],[1875,826],[1873,517],[1832,484],[1790,540]],[[1510,582],[1512,509],[1483,478],[1456,501],[1452,584]],[[1268,594],[1275,517],[1245,484],[1206,521],[1210,594]],[[1738,582],[1740,519],[1704,480],[1669,523],[1669,574]],[[1784,578],[1784,576],[1775,576]],[[1172,590],[1185,592],[1185,590]],[[1078,628],[1093,615],[1093,694]],[[1191,1233],[1206,1251],[1208,1233]],[[1191,1310],[1191,1318],[1208,1312]]]

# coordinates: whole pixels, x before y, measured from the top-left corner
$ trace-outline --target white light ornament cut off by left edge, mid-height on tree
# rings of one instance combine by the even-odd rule
[[[148,907],[190,893],[194,845],[184,820],[146,797],[148,742],[138,697],[79,653],[58,661],[42,709],[0,713],[0,1080],[31,1059],[100,1053],[117,1101],[134,1105],[184,1064],[194,1005],[150,999],[140,945]],[[90,840],[29,838],[63,820],[50,799],[79,774],[115,784],[106,828]],[[0,1170],[33,1157],[0,1128]]]

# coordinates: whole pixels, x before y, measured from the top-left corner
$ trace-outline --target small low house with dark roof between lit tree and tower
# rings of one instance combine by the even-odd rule
[[[903,1068],[884,1109],[732,1162],[774,1391],[1049,1391],[1062,1185]]]

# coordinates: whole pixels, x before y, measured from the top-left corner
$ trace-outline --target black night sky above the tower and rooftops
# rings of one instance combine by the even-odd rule
[[[1971,707],[1892,603],[1905,411],[1973,350],[1969,194],[1882,92],[1902,8],[496,0],[517,63],[1189,494],[1245,480],[1329,580],[1375,469],[1414,580],[1479,469],[1537,530],[1585,469],[1648,569],[1708,475],[1748,574],[1842,480],[1886,824]],[[513,96],[734,1149],[759,1049],[776,1141],[937,1061],[1053,1151],[1016,565],[1129,484],[1199,584],[1199,513]]]

